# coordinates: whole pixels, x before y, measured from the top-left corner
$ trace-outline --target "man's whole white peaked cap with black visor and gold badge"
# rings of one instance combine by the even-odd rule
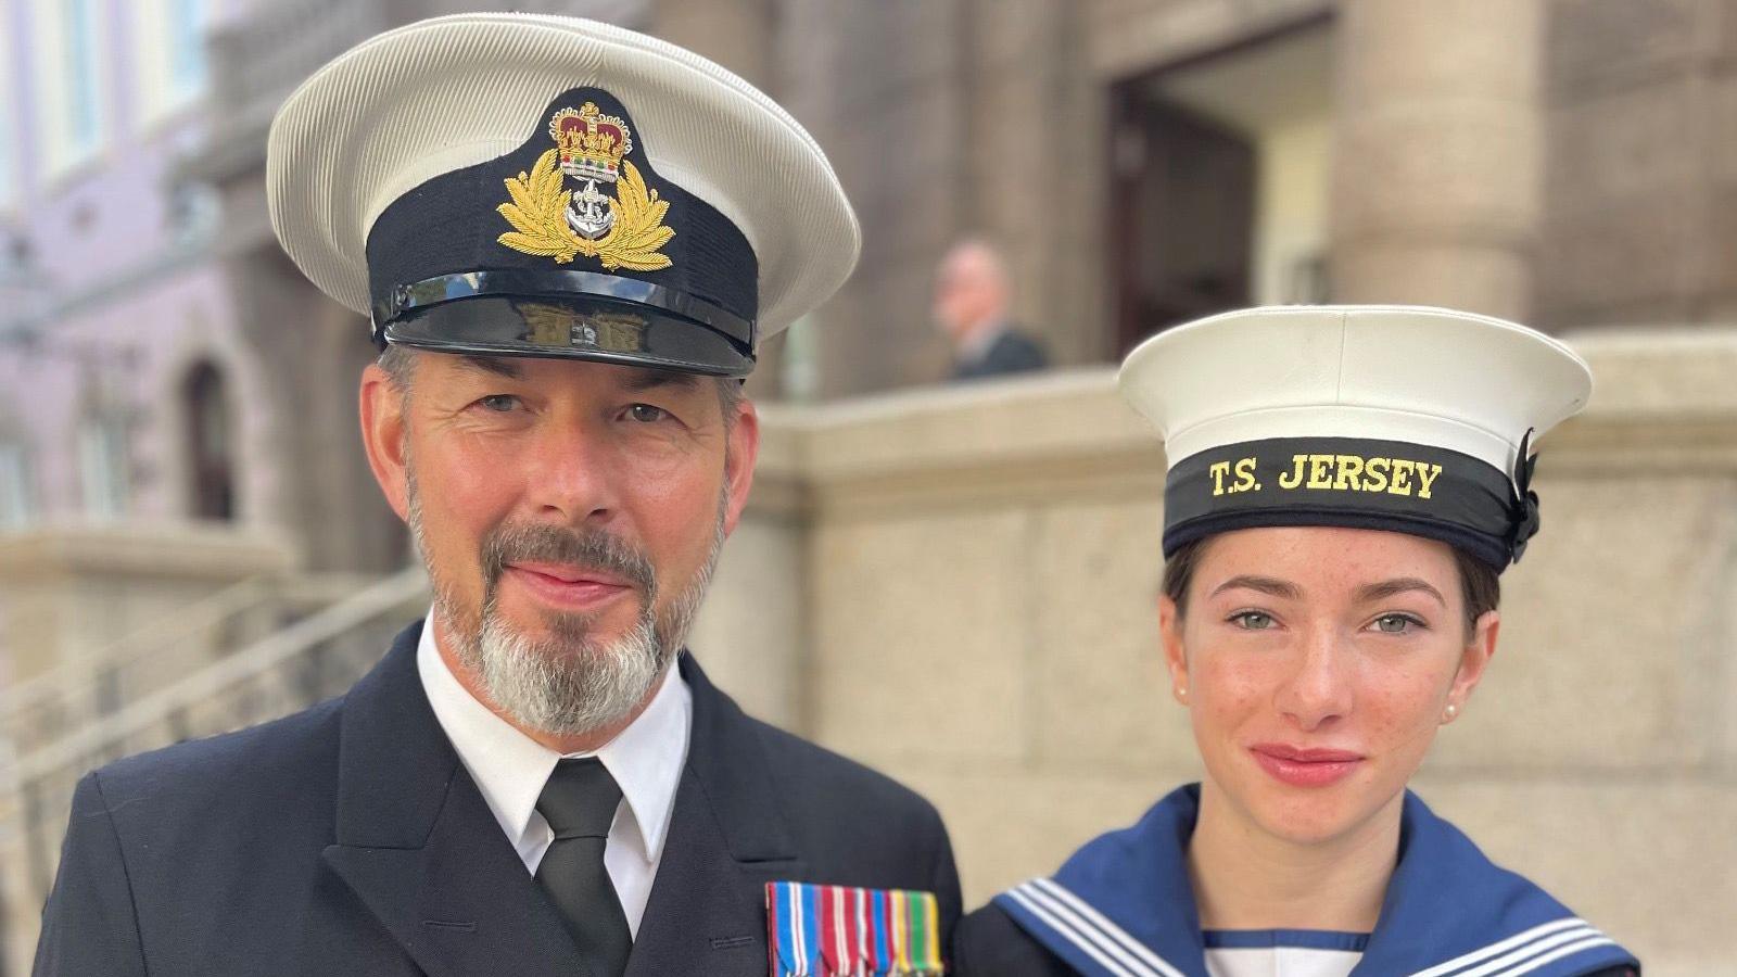
[[[670,43],[460,14],[342,54],[266,151],[283,250],[375,341],[745,376],[856,217],[771,99]]]

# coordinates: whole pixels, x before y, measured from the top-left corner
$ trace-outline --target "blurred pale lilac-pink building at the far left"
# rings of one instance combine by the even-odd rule
[[[226,0],[0,3],[0,527],[257,518],[208,188]]]

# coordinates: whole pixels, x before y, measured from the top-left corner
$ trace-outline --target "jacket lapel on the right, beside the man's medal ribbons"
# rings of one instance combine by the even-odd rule
[[[693,655],[681,676],[693,692],[688,768],[627,977],[759,977],[766,883],[801,878],[802,862],[752,721]]]

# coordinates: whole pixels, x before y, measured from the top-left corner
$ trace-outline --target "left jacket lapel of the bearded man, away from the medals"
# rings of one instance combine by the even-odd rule
[[[439,728],[413,624],[344,704],[327,864],[431,977],[587,974]]]

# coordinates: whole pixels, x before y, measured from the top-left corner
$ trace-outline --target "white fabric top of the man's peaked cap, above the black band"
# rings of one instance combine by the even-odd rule
[[[856,217],[827,156],[787,111],[690,50],[558,16],[436,17],[321,68],[271,125],[273,228],[320,290],[368,315],[365,245],[375,219],[433,177],[525,146],[547,129],[551,99],[592,87],[627,106],[632,143],[658,177],[747,238],[759,268],[759,336],[849,276]],[[476,219],[500,221],[493,212]]]

